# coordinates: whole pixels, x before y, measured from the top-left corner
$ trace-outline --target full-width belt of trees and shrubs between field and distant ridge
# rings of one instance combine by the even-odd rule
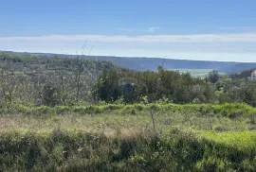
[[[131,71],[86,57],[34,58],[0,55],[0,106],[84,103],[244,102],[256,106],[256,85],[246,77],[206,78],[177,71]]]

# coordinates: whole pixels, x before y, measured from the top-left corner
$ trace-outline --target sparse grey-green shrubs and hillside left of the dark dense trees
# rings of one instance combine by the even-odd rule
[[[91,85],[109,61],[0,54],[0,107],[13,104],[72,105],[90,101]],[[79,89],[79,91],[78,91]]]

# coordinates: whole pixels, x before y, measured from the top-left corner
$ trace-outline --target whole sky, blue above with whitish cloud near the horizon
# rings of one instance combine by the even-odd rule
[[[255,0],[2,0],[0,50],[256,61],[255,7]]]

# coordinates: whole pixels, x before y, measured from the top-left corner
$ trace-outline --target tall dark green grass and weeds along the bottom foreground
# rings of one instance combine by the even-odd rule
[[[163,138],[150,133],[129,140],[75,130],[8,131],[0,134],[0,170],[251,171],[254,135],[230,133],[223,142],[216,133],[197,138],[179,129]],[[241,145],[244,136],[250,140]]]

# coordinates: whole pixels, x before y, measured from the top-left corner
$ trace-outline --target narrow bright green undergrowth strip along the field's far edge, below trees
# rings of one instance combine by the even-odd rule
[[[56,107],[27,107],[17,105],[9,109],[0,109],[0,113],[19,112],[24,114],[41,115],[41,114],[62,114],[64,112],[75,112],[80,114],[97,114],[103,112],[117,112],[123,114],[137,114],[148,112],[151,106],[157,106],[159,112],[186,112],[197,113],[200,115],[222,115],[229,118],[239,116],[256,115],[256,109],[242,103],[226,103],[226,104],[106,104],[106,105],[88,105],[88,106],[56,106]]]

